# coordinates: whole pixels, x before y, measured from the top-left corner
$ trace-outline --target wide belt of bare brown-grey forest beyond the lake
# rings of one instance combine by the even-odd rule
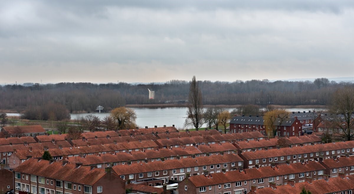
[[[234,82],[199,81],[204,104],[326,105],[333,93],[353,83],[318,78],[312,81],[250,80]],[[148,99],[148,89],[155,99]],[[69,112],[95,112],[98,105],[109,111],[126,104],[183,103],[188,99],[189,81],[165,84],[58,83],[0,86],[0,109],[21,112],[29,107],[60,104]]]

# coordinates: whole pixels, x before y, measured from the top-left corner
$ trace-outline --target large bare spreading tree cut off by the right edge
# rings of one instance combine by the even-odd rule
[[[354,135],[354,89],[352,87],[337,90],[332,97],[330,112],[333,114],[333,125],[339,129],[336,132],[350,141]]]

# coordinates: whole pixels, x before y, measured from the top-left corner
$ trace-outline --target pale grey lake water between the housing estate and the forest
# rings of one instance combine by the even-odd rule
[[[158,127],[162,127],[164,125],[175,127],[183,127],[184,120],[187,113],[186,107],[170,107],[170,108],[132,108],[135,110],[137,114],[136,123],[140,127],[154,127],[157,125]],[[233,108],[228,109],[229,111],[233,110]],[[289,112],[298,112],[298,111],[306,111],[312,110],[312,108],[288,108],[286,109]],[[109,115],[109,113],[79,113],[79,114],[71,114],[71,119],[76,119],[78,116],[85,116],[88,114],[93,114],[103,119],[105,116]],[[17,113],[7,113],[8,116],[18,116]],[[204,125],[203,127],[206,127]]]

